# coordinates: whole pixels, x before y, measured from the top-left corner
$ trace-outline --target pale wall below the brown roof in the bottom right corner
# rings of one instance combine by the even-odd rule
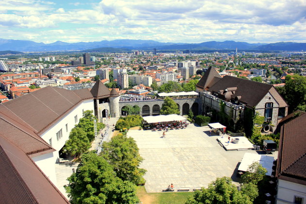
[[[294,196],[304,198],[306,204],[306,186],[278,179],[277,204],[294,203]]]

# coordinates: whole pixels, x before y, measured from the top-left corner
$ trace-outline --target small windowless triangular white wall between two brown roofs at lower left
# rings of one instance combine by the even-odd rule
[[[48,176],[53,184],[56,184],[55,163],[53,153],[32,157],[35,164]]]

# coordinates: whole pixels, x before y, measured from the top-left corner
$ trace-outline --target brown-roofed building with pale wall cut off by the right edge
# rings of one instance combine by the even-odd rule
[[[279,139],[276,203],[306,204],[306,114],[293,113],[287,120]]]

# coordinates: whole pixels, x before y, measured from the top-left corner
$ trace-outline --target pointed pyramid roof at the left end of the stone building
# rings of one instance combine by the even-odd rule
[[[209,67],[196,86],[201,89],[207,89],[216,84],[220,79],[221,76],[216,69]]]

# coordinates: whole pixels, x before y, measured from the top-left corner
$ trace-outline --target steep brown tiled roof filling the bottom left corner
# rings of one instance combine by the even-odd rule
[[[69,203],[32,159],[3,135],[0,135],[0,164],[0,203]]]

